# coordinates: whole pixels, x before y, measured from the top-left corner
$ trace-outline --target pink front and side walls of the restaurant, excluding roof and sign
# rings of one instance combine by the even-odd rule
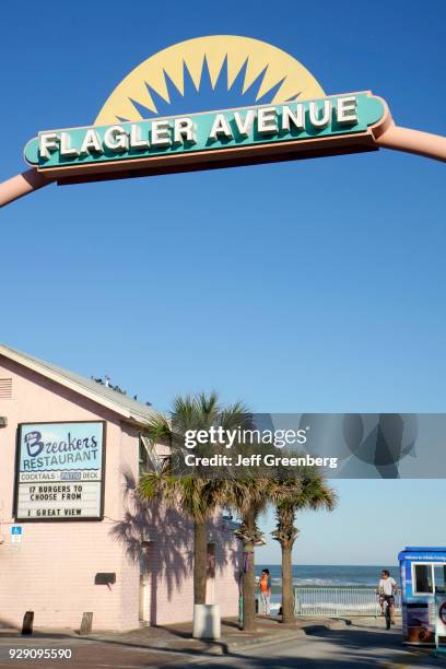
[[[113,411],[0,355],[0,379],[12,378],[12,399],[0,398],[0,627],[22,624],[79,629],[93,612],[95,630],[139,625],[141,540],[150,548],[145,575],[152,624],[190,620],[193,610],[193,545],[190,523],[134,502],[138,432]],[[11,543],[16,429],[22,422],[105,420],[106,472],[102,521],[25,523],[20,544]],[[126,494],[126,489],[127,493]],[[208,599],[222,615],[238,610],[239,548],[219,517],[209,526],[215,542],[215,579]],[[115,572],[116,584],[94,585],[97,572]]]

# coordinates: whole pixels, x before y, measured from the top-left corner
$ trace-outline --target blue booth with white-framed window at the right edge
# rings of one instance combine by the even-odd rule
[[[398,559],[402,641],[416,646],[435,646],[437,602],[446,596],[446,547],[408,545]]]

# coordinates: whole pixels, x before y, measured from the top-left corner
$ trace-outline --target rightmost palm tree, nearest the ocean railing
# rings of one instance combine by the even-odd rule
[[[292,575],[292,551],[298,536],[295,515],[304,508],[332,510],[338,498],[325,478],[308,467],[297,470],[293,477],[271,481],[270,495],[275,502],[277,517],[272,536],[282,549],[282,622],[291,623],[295,620]]]

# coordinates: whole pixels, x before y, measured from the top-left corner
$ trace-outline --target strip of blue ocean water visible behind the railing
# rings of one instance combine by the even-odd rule
[[[261,571],[269,568],[271,576],[272,609],[278,609],[282,598],[282,567],[280,564],[256,564],[256,578]],[[357,564],[295,564],[293,565],[293,584],[308,587],[356,587],[369,588],[378,585],[382,570],[389,570],[390,576],[399,585],[399,567],[388,565],[363,566]]]

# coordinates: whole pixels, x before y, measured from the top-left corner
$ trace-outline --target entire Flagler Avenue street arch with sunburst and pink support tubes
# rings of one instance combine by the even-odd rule
[[[215,109],[208,111],[203,109]],[[31,168],[0,206],[59,185],[377,151],[446,161],[446,138],[395,125],[369,91],[326,95],[289,54],[231,35],[155,54],[115,89],[95,122],[38,132]]]

